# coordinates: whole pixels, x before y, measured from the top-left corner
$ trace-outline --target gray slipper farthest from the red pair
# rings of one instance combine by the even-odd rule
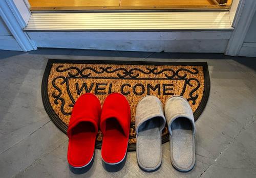
[[[170,160],[179,171],[189,171],[195,165],[195,132],[193,112],[182,96],[172,96],[165,104],[165,116],[170,136]]]

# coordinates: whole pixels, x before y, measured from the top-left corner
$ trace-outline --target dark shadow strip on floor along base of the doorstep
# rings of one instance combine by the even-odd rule
[[[26,54],[25,52],[0,50],[0,59]],[[234,60],[244,66],[256,70],[256,58],[232,57],[217,53],[155,53],[155,52],[126,52],[113,50],[92,49],[63,49],[63,48],[39,48],[27,52],[29,55],[53,55],[53,56],[91,56],[91,57],[121,57],[143,59],[205,59],[205,60]],[[61,59],[61,57],[59,58]],[[124,59],[125,60],[125,59]]]

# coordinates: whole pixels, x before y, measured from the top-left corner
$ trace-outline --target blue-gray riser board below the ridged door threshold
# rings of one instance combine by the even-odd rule
[[[37,47],[224,53],[231,32],[28,32],[28,35]]]

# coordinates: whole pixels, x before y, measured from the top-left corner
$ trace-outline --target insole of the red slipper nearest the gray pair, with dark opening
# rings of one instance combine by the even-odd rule
[[[106,130],[102,140],[101,155],[107,163],[118,163],[126,155],[128,138],[124,135],[116,118],[106,120]]]

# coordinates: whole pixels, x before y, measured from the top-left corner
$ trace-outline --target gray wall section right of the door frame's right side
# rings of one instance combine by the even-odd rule
[[[253,16],[239,56],[256,57],[256,13]]]

